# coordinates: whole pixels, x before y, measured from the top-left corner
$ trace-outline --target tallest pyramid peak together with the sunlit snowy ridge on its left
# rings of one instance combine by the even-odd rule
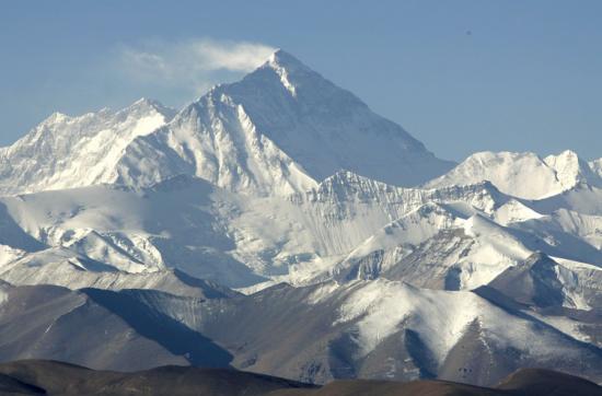
[[[0,151],[0,191],[143,187],[190,174],[271,195],[306,190],[344,168],[407,186],[453,165],[282,50],[172,117],[147,100],[117,113],[57,113]]]

